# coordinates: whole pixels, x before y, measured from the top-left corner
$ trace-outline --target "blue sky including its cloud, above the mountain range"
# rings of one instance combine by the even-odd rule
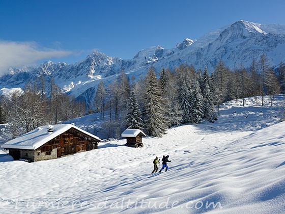
[[[284,9],[283,0],[0,0],[0,72],[74,63],[94,49],[131,59],[140,49],[172,48],[240,19],[285,25]]]

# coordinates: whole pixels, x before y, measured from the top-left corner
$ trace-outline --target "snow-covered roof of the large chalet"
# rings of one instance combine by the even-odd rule
[[[48,132],[47,129],[49,129],[49,125],[40,126],[30,132],[25,133],[24,135],[15,138],[11,141],[8,141],[3,145],[5,149],[32,149],[35,150],[39,148],[40,146],[44,145],[48,141],[52,140],[56,136],[61,135],[65,131],[69,130],[70,128],[77,129],[80,132],[83,132],[87,136],[94,138],[98,141],[101,141],[100,138],[98,138],[95,135],[92,135],[91,133],[82,130],[81,128],[76,127],[72,124],[60,124],[60,125],[53,125],[52,132]]]

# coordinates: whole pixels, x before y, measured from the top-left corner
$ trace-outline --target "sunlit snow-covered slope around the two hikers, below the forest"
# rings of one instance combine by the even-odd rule
[[[282,213],[285,122],[278,122],[284,96],[273,108],[268,100],[265,107],[253,99],[245,107],[241,100],[228,103],[217,122],[169,129],[163,138],[144,138],[143,148],[111,141],[31,164],[5,156],[0,211]],[[170,169],[151,175],[153,158],[166,154]]]

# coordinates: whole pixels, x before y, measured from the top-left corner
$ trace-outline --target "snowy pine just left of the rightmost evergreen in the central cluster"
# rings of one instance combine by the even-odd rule
[[[200,123],[204,118],[205,105],[198,81],[193,82],[190,106],[190,122]]]

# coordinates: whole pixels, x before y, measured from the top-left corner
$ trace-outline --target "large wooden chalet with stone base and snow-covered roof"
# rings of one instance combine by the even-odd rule
[[[40,126],[3,145],[15,161],[36,162],[98,148],[100,138],[73,124]]]

